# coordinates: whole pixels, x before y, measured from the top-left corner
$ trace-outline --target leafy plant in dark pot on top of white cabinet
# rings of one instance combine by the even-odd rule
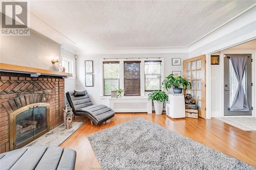
[[[182,89],[186,90],[188,86],[191,86],[190,82],[186,81],[181,76],[175,77],[174,74],[167,76],[162,84],[166,90],[173,88],[174,93],[182,93]]]

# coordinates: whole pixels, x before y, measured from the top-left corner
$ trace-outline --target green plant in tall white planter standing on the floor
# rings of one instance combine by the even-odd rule
[[[162,114],[163,103],[168,100],[168,95],[164,91],[153,91],[148,94],[148,100],[152,100],[156,114]]]

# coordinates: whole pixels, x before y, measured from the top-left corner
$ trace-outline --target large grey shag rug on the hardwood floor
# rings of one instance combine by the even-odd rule
[[[103,169],[256,169],[143,118],[88,139]]]

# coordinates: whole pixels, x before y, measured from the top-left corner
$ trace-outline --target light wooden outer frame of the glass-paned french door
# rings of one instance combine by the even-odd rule
[[[199,110],[199,116],[206,118],[206,55],[201,55],[198,57],[189,58],[183,60],[183,77],[186,78],[186,62],[195,61],[201,59],[201,71],[204,70],[204,74],[201,74],[201,111]],[[191,64],[191,63],[190,63]]]

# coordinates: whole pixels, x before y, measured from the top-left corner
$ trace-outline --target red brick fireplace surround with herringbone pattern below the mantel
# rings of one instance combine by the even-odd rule
[[[50,129],[63,122],[64,79],[0,72],[0,153],[10,150],[9,114],[26,105],[50,103]]]

